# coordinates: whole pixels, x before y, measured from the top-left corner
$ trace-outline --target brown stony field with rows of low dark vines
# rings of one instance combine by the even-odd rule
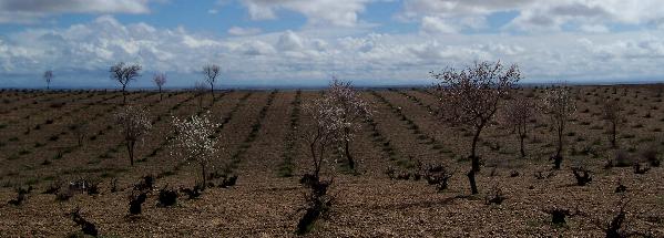
[[[664,87],[575,86],[578,111],[565,133],[563,168],[551,176],[549,157],[555,134],[544,115],[531,124],[525,158],[511,128],[496,124],[482,133],[479,155],[484,166],[478,176],[480,194],[470,196],[466,173],[472,134],[442,124],[433,113],[437,97],[427,89],[362,91],[371,103],[376,126],[364,124],[353,144],[359,173],[343,165],[331,193],[339,198],[311,237],[601,237],[615,215],[626,186],[630,227],[664,237],[664,168],[635,174],[631,166],[605,169],[617,152],[630,162],[643,162],[647,148],[664,148]],[[518,93],[541,101],[543,89]],[[127,102],[145,106],[153,131],[137,144],[137,163],[129,164],[126,148],[114,125],[122,105],[120,92],[0,93],[0,237],[62,237],[80,230],[65,214],[74,207],[104,236],[143,237],[284,237],[295,236],[305,188],[299,185],[309,161],[300,142],[299,125],[310,123],[302,105],[318,91],[224,91],[210,94],[204,106],[222,123],[217,136],[223,151],[215,167],[238,175],[231,188],[210,188],[198,199],[181,196],[174,207],[156,206],[149,195],[142,215],[129,217],[129,196],[144,175],[154,175],[155,188],[191,187],[198,175],[195,164],[172,158],[168,136],[172,116],[198,110],[188,92],[132,92]],[[625,122],[619,128],[619,147],[611,148],[602,105],[620,99]],[[88,124],[79,146],[72,124]],[[390,179],[386,172],[411,172],[417,162],[446,164],[456,170],[445,192],[426,180]],[[592,182],[576,186],[570,167],[590,168]],[[289,176],[289,172],[292,176]],[[517,175],[518,173],[518,175]],[[65,201],[42,194],[57,180],[100,179],[100,194],[76,194]],[[111,182],[119,190],[111,193]],[[20,206],[16,186],[32,186]],[[500,188],[507,198],[486,205],[488,193]],[[566,225],[551,223],[545,210],[580,210]],[[600,226],[601,225],[601,226]]]

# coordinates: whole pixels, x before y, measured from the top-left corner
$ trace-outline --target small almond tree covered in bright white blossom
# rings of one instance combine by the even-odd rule
[[[171,154],[186,162],[196,162],[201,166],[203,185],[206,184],[205,167],[216,158],[218,139],[214,130],[218,126],[210,120],[210,112],[198,116],[192,115],[186,120],[173,117],[175,139]]]

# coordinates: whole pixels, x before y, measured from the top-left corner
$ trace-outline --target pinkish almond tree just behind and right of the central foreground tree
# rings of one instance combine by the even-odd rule
[[[350,82],[343,82],[334,77],[327,90],[326,97],[329,97],[333,105],[339,108],[341,113],[339,120],[341,127],[341,143],[344,155],[348,161],[350,169],[355,169],[355,159],[350,154],[350,143],[355,137],[355,133],[360,130],[361,121],[372,116],[369,104],[364,101],[359,94],[353,89]]]

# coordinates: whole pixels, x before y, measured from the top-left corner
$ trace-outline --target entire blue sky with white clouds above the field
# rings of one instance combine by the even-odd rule
[[[664,79],[662,0],[0,0],[0,87],[113,87],[140,63],[193,86],[430,84],[431,71],[518,64],[523,82]]]

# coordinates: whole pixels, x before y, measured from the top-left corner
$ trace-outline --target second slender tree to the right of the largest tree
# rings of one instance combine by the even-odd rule
[[[551,161],[553,161],[553,168],[560,169],[563,159],[563,134],[568,120],[576,112],[576,105],[570,89],[566,85],[561,85],[549,90],[544,95],[542,110],[549,115],[551,126],[558,134],[558,147]]]

